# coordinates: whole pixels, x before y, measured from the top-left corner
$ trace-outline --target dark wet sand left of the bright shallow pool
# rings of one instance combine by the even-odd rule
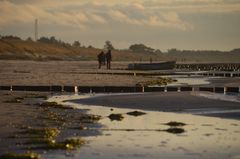
[[[86,110],[39,106],[49,96],[51,93],[0,91],[0,158],[9,152],[54,153],[55,151],[49,152],[48,148],[33,142],[37,140],[34,134],[26,133],[31,129],[58,129],[60,133],[56,141],[59,142],[76,135],[82,137],[99,134],[98,130],[88,132],[81,129],[85,126],[99,127],[95,122],[83,123],[81,119],[87,117]],[[64,154],[65,151],[59,153]]]

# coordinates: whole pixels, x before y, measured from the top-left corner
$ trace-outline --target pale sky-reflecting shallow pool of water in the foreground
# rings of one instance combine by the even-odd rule
[[[51,100],[81,98],[80,96],[62,96]],[[66,102],[65,104],[72,104]],[[144,111],[143,116],[129,116],[132,109],[118,109],[100,106],[83,106],[89,113],[102,115],[100,123],[103,129],[138,129],[138,131],[103,130],[101,136],[86,137],[86,146],[74,153],[73,158],[239,158],[240,157],[240,121],[188,114]],[[110,121],[111,113],[123,113],[122,121]],[[176,135],[157,129],[167,129],[163,125],[170,121],[184,122],[186,132]],[[150,129],[151,131],[141,131]],[[59,156],[57,158],[65,158]]]

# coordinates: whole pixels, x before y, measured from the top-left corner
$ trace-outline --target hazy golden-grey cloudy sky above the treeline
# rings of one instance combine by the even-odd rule
[[[0,0],[0,35],[41,36],[117,49],[240,47],[240,0]]]

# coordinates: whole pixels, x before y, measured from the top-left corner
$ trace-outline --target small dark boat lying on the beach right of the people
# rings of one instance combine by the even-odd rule
[[[128,65],[129,70],[170,70],[174,69],[176,61],[158,63],[133,63]]]

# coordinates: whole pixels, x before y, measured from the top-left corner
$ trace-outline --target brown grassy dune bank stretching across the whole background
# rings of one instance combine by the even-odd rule
[[[70,44],[34,42],[21,39],[0,39],[0,60],[97,60],[101,49],[75,47]],[[222,51],[181,51],[168,53],[113,50],[114,61],[167,61],[177,62],[240,62],[240,49]]]

